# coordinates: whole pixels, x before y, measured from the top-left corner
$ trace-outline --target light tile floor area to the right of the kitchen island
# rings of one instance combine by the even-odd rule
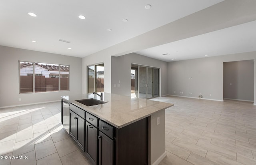
[[[167,157],[160,165],[256,165],[256,105],[156,97],[166,109]]]

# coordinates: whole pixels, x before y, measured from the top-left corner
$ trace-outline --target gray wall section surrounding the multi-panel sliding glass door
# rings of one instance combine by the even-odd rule
[[[167,62],[135,53],[111,57],[111,93],[127,96],[131,95],[131,64],[160,68],[159,95],[167,94]],[[116,87],[114,87],[114,84],[116,84]],[[120,84],[120,87],[118,87],[118,84]]]

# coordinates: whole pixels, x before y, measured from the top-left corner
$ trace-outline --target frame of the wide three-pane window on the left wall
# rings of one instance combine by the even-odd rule
[[[32,73],[32,84],[33,84],[33,91],[32,92],[24,92],[24,93],[21,93],[20,92],[20,85],[21,85],[21,82],[20,82],[20,62],[26,62],[26,63],[32,63],[33,64],[33,73]],[[19,75],[19,94],[26,94],[26,93],[46,93],[46,92],[58,92],[58,91],[70,91],[70,65],[66,65],[66,64],[55,64],[56,66],[58,66],[58,91],[42,91],[42,92],[35,92],[35,64],[36,63],[42,63],[42,64],[48,64],[48,63],[44,63],[44,62],[30,62],[30,61],[24,61],[24,60],[18,60],[18,75]],[[60,78],[61,78],[61,69],[60,67],[61,66],[68,66],[68,89],[67,90],[60,90],[61,89],[61,86],[60,86]],[[50,76],[50,74],[49,74]]]

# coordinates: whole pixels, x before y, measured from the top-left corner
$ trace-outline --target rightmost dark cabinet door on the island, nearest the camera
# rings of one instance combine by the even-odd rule
[[[99,165],[113,165],[114,141],[99,131]]]

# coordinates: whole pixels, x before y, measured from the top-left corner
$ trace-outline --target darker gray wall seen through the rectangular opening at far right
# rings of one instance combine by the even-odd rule
[[[254,100],[254,61],[224,62],[223,97]]]

